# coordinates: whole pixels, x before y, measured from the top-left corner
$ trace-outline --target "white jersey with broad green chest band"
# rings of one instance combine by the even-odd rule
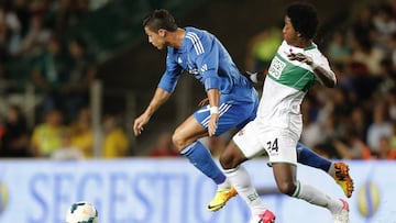
[[[289,60],[287,55],[290,53],[308,55],[317,65],[330,70],[328,59],[319,52],[317,45],[298,48],[284,41],[265,78],[255,121],[265,129],[276,127],[289,131],[299,138],[302,131],[300,104],[308,89],[318,83],[319,78],[307,64]]]

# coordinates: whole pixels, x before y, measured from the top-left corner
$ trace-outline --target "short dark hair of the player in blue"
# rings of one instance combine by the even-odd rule
[[[155,10],[143,20],[143,27],[147,26],[151,31],[157,32],[160,29],[164,29],[170,32],[177,30],[177,24],[172,14],[165,10]]]

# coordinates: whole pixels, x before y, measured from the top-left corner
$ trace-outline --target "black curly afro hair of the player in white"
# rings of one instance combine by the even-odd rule
[[[315,37],[319,25],[316,8],[306,2],[294,2],[286,9],[286,15],[290,18],[293,27],[299,32],[304,38]]]

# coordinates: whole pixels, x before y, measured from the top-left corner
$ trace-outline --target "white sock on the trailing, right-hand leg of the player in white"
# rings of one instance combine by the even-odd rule
[[[327,208],[331,213],[340,211],[343,205],[340,200],[334,200],[312,186],[302,185],[299,181],[293,197]]]

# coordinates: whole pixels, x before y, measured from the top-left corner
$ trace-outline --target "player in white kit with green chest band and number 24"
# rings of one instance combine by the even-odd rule
[[[220,157],[228,179],[252,211],[250,223],[275,221],[275,214],[263,205],[241,165],[264,149],[282,193],[327,208],[336,223],[349,222],[346,201],[332,199],[296,178],[302,99],[315,83],[328,88],[337,83],[327,58],[312,42],[317,29],[318,16],[311,4],[296,2],[286,9],[284,41],[270,66],[257,115],[233,136]]]

